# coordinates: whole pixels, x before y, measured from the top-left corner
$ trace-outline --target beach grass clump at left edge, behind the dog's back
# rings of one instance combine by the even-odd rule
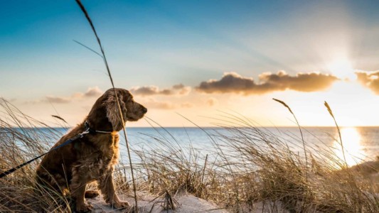
[[[0,99],[0,171],[48,151],[61,134]],[[70,212],[66,197],[36,187],[38,160],[0,179],[0,212]],[[42,196],[45,195],[45,196]]]

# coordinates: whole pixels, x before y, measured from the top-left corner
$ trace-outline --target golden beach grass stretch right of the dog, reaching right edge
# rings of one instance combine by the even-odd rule
[[[311,148],[299,141],[286,141],[265,129],[240,120],[237,126],[223,126],[226,135],[215,134],[215,151],[204,163],[202,151],[196,162],[183,149],[139,153],[143,159],[151,192],[185,188],[198,197],[212,200],[233,212],[248,212],[257,204],[265,209],[289,212],[378,212],[378,183],[357,168],[346,168],[343,159],[331,152]],[[206,131],[206,130],[205,130]],[[304,153],[294,152],[306,149]],[[193,158],[192,158],[193,159]],[[378,173],[378,169],[374,170]],[[202,178],[202,174],[206,178]]]

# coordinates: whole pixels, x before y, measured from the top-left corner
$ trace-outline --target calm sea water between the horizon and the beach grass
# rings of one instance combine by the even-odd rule
[[[63,135],[67,129],[57,129],[58,136]],[[292,151],[303,153],[301,135],[296,127],[260,128],[261,131],[274,135],[274,138],[284,141]],[[40,131],[44,131],[40,129]],[[306,146],[312,154],[327,148],[339,158],[343,158],[339,138],[334,127],[307,127],[302,129]],[[373,160],[379,155],[379,127],[345,127],[341,128],[343,146],[346,160],[349,165],[361,163],[362,160]],[[202,154],[215,153],[214,143],[223,143],[223,137],[234,137],[235,134],[226,129],[198,129],[198,128],[127,128],[127,138],[134,151],[188,151],[192,148]],[[127,160],[127,150],[123,136],[120,137],[120,152],[122,160]],[[46,138],[47,146],[55,143],[55,139]],[[164,144],[169,141],[169,146]],[[228,151],[226,151],[228,152]],[[137,158],[135,152],[132,158]]]

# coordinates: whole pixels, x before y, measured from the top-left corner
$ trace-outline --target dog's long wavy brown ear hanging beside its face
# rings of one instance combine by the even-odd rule
[[[121,107],[124,121],[127,121],[127,107],[125,107],[125,103],[122,101],[122,92],[117,91],[117,97],[119,99],[119,106]],[[112,124],[113,130],[122,130],[124,128],[124,124],[122,124],[121,115],[119,113],[119,107],[117,106],[116,95],[114,94],[113,90],[109,92],[104,104],[105,109],[107,110],[107,118]]]

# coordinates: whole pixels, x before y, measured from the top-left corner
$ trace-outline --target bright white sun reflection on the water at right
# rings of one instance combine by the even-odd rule
[[[346,163],[351,165],[356,165],[361,163],[365,156],[365,151],[361,145],[361,134],[355,127],[344,127],[341,129],[343,149],[345,150]],[[339,138],[338,133],[336,133],[336,138]],[[333,142],[334,153],[343,160],[343,152],[341,149],[341,144],[338,141]]]

